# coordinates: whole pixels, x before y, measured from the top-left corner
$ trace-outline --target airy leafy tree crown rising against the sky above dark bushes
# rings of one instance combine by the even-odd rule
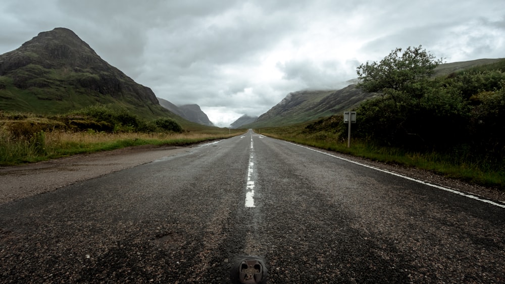
[[[422,46],[408,47],[400,55],[396,48],[380,62],[362,64],[358,67],[358,88],[366,92],[409,91],[415,84],[428,79],[442,59],[422,49]]]

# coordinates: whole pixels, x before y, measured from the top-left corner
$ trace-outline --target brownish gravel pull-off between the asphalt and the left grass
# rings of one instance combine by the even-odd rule
[[[148,145],[0,167],[0,204],[118,172],[188,149]]]

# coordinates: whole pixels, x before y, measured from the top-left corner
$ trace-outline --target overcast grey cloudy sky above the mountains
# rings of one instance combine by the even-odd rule
[[[65,27],[158,97],[219,126],[289,92],[340,88],[422,45],[446,62],[505,58],[503,0],[2,0],[0,54]]]

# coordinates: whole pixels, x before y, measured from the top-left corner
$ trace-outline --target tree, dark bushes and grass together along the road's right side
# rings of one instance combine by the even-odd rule
[[[377,95],[352,109],[350,148],[341,115],[259,131],[505,189],[505,61],[433,78],[441,60],[401,51],[358,68],[359,87]]]

